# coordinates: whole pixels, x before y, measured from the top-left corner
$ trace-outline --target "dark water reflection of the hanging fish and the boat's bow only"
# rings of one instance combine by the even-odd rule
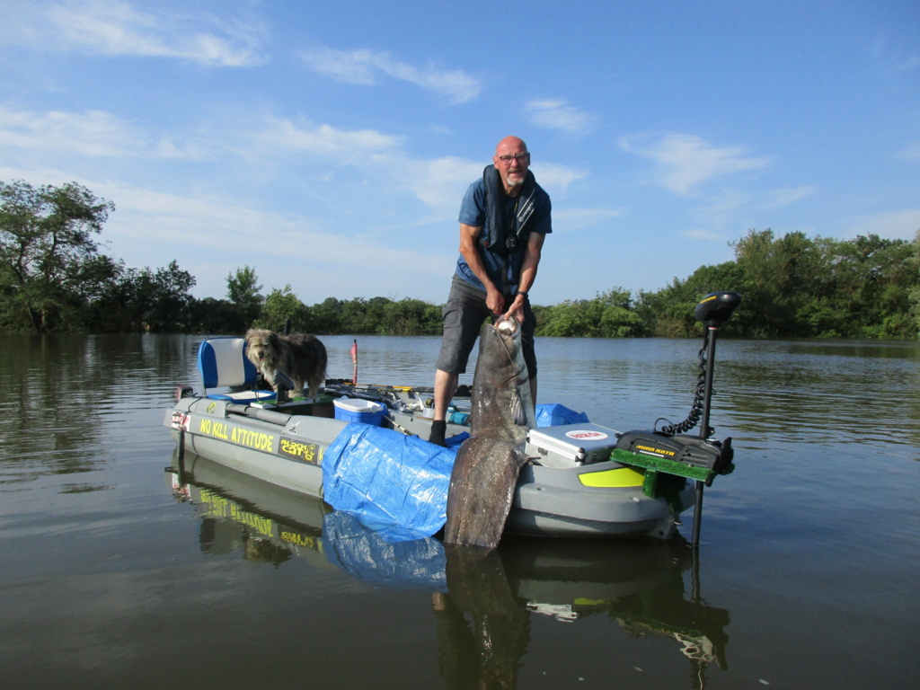
[[[454,680],[466,676],[472,662],[485,686],[516,686],[514,670],[522,665],[534,615],[569,625],[606,615],[632,637],[673,638],[691,664],[695,688],[705,685],[708,664],[726,668],[729,612],[702,602],[698,554],[684,539],[642,539],[611,549],[597,541],[516,538],[485,555],[448,549],[448,592],[435,597],[439,634],[452,648],[475,650],[449,672]]]

